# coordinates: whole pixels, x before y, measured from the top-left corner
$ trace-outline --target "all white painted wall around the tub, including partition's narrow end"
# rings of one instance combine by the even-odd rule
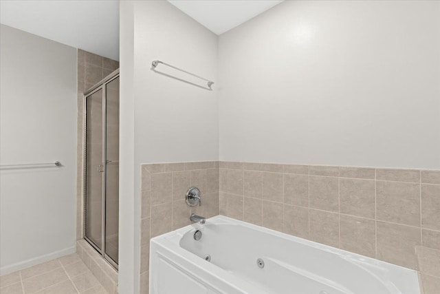
[[[439,3],[285,1],[219,38],[166,1],[120,11],[121,293],[139,291],[142,163],[440,167]]]

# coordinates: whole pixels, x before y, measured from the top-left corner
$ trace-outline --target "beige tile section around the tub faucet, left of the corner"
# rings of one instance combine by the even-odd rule
[[[219,214],[219,162],[178,162],[141,168],[140,293],[148,293],[150,238],[190,224],[190,214]],[[201,206],[188,207],[186,191],[201,192]]]

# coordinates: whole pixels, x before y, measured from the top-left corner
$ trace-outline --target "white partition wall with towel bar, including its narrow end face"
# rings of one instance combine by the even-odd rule
[[[126,262],[126,266],[134,269],[133,273],[138,273],[139,264],[132,264],[126,258],[134,256],[135,261],[139,260],[140,165],[217,160],[219,154],[216,85],[214,91],[209,91],[157,74],[151,70],[151,61],[159,59],[217,82],[217,36],[168,1],[122,1],[120,21],[121,40],[128,41],[120,44],[121,147],[124,148],[124,136],[129,142],[134,138],[133,148],[126,149],[129,154],[134,153],[133,165],[123,166],[121,158],[120,172],[133,166],[134,171],[129,172],[134,172],[135,189],[133,195],[128,185],[120,188],[121,200],[133,205],[120,209],[124,216],[131,216],[128,220],[120,219],[120,266],[122,269]],[[124,75],[131,70],[133,76]],[[163,65],[157,70],[199,83]],[[206,86],[206,83],[199,85]],[[124,124],[133,125],[134,137]],[[121,154],[123,152],[122,149]],[[127,176],[126,180],[132,179]],[[131,231],[133,224],[134,231]],[[134,251],[124,252],[122,249],[126,246]],[[135,287],[134,293],[137,293],[138,279],[137,275],[122,273],[120,292],[132,293]]]

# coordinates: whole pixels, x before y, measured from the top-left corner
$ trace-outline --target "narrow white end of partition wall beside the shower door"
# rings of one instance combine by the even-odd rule
[[[134,1],[120,1],[120,102],[119,102],[119,264],[120,293],[139,293],[139,218],[135,203],[134,165]]]

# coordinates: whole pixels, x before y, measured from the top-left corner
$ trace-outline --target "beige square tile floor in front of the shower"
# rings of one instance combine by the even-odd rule
[[[108,294],[76,253],[2,275],[0,293]]]

